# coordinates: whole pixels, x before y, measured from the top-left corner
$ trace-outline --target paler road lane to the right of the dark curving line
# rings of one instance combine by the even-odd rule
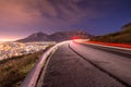
[[[71,42],[71,48],[96,67],[131,87],[131,50],[81,45]]]

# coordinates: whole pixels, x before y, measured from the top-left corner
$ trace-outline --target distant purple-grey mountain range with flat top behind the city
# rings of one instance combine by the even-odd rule
[[[63,41],[70,40],[72,37],[81,37],[81,38],[91,38],[92,36],[82,30],[72,30],[72,32],[57,32],[51,35],[47,35],[45,33],[36,33],[31,36],[20,39],[20,42],[32,42],[32,41]]]

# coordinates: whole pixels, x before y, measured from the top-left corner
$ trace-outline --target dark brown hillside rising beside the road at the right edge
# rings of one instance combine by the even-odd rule
[[[131,44],[131,23],[123,25],[120,32],[107,34],[104,36],[97,36],[92,40],[105,42]]]

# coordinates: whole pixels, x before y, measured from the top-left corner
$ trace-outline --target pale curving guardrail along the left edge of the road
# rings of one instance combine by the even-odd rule
[[[59,46],[63,45],[64,42],[69,42],[69,41],[63,41],[63,42],[57,44],[56,46],[51,47],[49,50],[47,50],[43,54],[43,57],[38,60],[38,62],[33,67],[33,70],[25,77],[24,82],[21,84],[21,87],[35,87],[36,86],[38,76],[43,69],[43,65],[46,63],[46,60]]]

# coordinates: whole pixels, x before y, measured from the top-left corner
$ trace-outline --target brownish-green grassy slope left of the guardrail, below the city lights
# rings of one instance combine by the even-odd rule
[[[19,87],[44,51],[0,61],[0,87]]]

